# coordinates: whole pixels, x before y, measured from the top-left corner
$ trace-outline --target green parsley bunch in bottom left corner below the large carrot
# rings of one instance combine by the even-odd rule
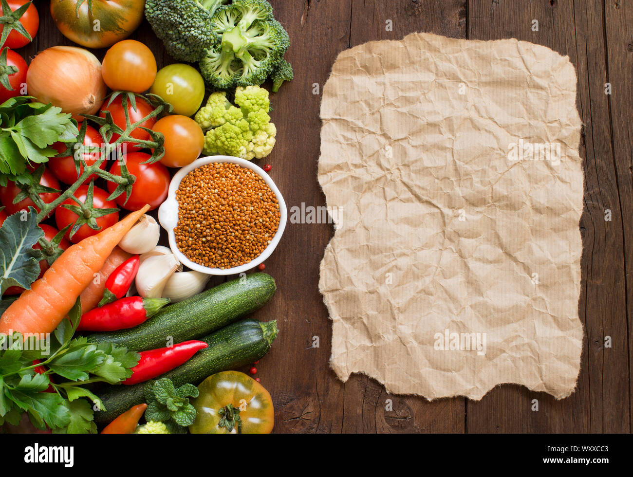
[[[94,433],[94,411],[103,402],[83,386],[104,381],[115,384],[132,375],[139,355],[113,344],[92,344],[73,338],[81,318],[77,300],[46,342],[0,334],[0,424],[17,424],[27,412],[38,429],[54,433]],[[41,362],[34,362],[34,360]],[[44,371],[35,368],[42,366]],[[58,378],[51,380],[51,375]],[[44,392],[52,387],[54,392]],[[86,399],[87,398],[87,399]],[[92,404],[91,404],[92,403]]]

